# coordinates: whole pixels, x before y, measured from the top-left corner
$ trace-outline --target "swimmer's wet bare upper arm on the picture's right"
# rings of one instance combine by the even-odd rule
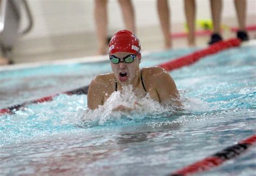
[[[159,68],[159,74],[157,74],[156,90],[159,96],[161,104],[167,104],[174,107],[176,110],[181,110],[183,105],[181,104],[179,92],[177,90],[174,80],[164,69]]]

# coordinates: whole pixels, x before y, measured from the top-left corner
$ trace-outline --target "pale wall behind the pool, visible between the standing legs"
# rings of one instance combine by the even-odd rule
[[[197,19],[210,19],[210,0],[197,0]],[[96,53],[96,35],[93,0],[28,0],[34,26],[30,33],[19,38],[14,57],[35,60],[35,55],[44,55],[46,60],[82,57]],[[160,49],[163,46],[156,0],[133,0],[137,35],[144,50]],[[185,31],[184,1],[169,0],[172,31]],[[122,13],[117,0],[109,0],[109,35],[123,29]],[[23,14],[24,16],[24,14]],[[223,1],[223,24],[237,25],[233,0]],[[247,24],[254,24],[256,1],[247,0]],[[27,21],[22,20],[22,26]],[[153,42],[156,45],[149,45]],[[29,50],[28,50],[29,48]],[[63,55],[56,54],[62,52]],[[34,56],[34,57],[32,57]],[[46,57],[47,56],[47,57]],[[31,57],[31,58],[30,58]],[[17,59],[18,61],[18,59]]]

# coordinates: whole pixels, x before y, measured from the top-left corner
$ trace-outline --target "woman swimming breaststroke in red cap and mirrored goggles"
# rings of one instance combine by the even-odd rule
[[[149,93],[154,101],[180,109],[179,93],[170,74],[158,66],[140,69],[140,42],[131,31],[122,30],[114,34],[109,43],[109,58],[112,72],[98,75],[90,83],[87,94],[89,109],[95,110],[104,105],[113,92],[122,92],[128,85],[132,85],[132,91],[139,98]],[[137,101],[134,104],[138,104]],[[132,109],[119,105],[112,111],[130,112]]]

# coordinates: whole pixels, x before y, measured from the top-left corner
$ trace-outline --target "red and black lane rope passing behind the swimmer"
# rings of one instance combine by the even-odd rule
[[[166,71],[172,71],[174,69],[179,69],[183,66],[188,66],[188,65],[194,64],[198,60],[202,59],[205,56],[212,55],[214,53],[223,51],[225,49],[240,46],[240,44],[241,44],[241,40],[238,38],[220,41],[220,42],[217,42],[217,43],[214,43],[214,44],[208,46],[208,48],[206,48],[206,49],[198,50],[189,55],[179,57],[177,59],[171,60],[170,62],[160,64],[158,66],[163,67]],[[87,94],[88,89],[89,89],[89,86],[84,86],[84,87],[80,87],[79,89],[76,89],[76,90],[64,92],[62,94],[68,94],[68,95]],[[43,98],[32,100],[32,101],[26,101],[25,103],[6,107],[5,109],[0,109],[0,115],[5,114],[5,113],[9,113],[9,114],[15,113],[15,111],[24,109],[26,107],[26,105],[29,105],[29,104],[36,104],[36,103],[43,103],[45,101],[51,101],[53,99],[53,97],[56,97],[58,95],[59,94],[55,94],[52,96],[43,97]]]

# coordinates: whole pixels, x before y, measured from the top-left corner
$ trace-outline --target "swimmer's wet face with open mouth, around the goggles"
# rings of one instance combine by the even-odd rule
[[[130,52],[117,52],[114,53],[114,56],[120,58],[121,61],[124,60],[126,56],[133,55]],[[114,77],[118,83],[123,85],[132,84],[134,78],[139,75],[139,63],[140,60],[136,57],[132,63],[120,62],[118,64],[113,64],[111,62],[112,71],[114,73]]]

